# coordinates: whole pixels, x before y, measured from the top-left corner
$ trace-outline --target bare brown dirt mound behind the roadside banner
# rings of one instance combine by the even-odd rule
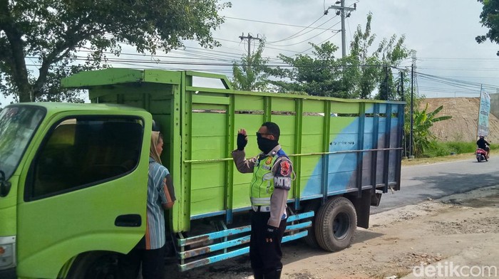
[[[421,101],[420,110],[428,103],[428,111],[443,105],[437,116],[450,115],[450,120],[436,122],[431,132],[442,141],[475,142],[480,98],[428,98]],[[489,142],[499,142],[499,119],[489,115]]]

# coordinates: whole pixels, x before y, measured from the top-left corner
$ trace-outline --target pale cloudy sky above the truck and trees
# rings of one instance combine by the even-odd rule
[[[247,55],[247,41],[240,36],[265,38],[263,56],[277,64],[279,53],[285,56],[312,54],[309,42],[330,41],[339,46],[341,57],[341,19],[335,10],[324,10],[335,1],[324,0],[233,0],[232,7],[220,11],[225,23],[213,31],[222,46],[213,50],[186,41],[184,50],[142,56],[132,46],[123,46],[114,67],[163,68],[173,70],[202,70],[232,75],[232,61]],[[480,86],[488,93],[499,88],[499,45],[478,44],[475,36],[483,35],[482,4],[475,0],[345,0],[345,6],[356,10],[345,21],[346,53],[357,26],[364,29],[366,16],[372,13],[371,33],[376,34],[374,46],[382,38],[406,36],[406,47],[416,51],[416,60],[404,60],[401,67],[410,68],[414,62],[418,92],[426,98],[478,97]],[[256,48],[252,41],[252,49]],[[154,63],[153,60],[159,60]],[[145,61],[145,63],[143,62]],[[180,62],[180,63],[179,63]],[[215,85],[214,85],[215,86]],[[11,100],[0,98],[6,105]]]

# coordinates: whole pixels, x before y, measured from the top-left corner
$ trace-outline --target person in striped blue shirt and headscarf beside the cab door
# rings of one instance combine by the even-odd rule
[[[161,164],[161,152],[163,135],[153,131],[150,139],[145,236],[121,260],[121,278],[137,278],[140,263],[144,279],[165,278],[165,209],[173,207],[175,191],[170,172]]]

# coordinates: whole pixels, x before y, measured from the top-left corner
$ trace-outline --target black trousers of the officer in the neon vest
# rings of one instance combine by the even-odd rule
[[[254,273],[266,274],[282,269],[281,241],[286,229],[286,220],[279,224],[279,236],[272,242],[265,242],[269,212],[251,212],[251,237],[249,259]]]

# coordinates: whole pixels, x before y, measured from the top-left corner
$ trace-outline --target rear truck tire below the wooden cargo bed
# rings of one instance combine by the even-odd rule
[[[329,252],[349,247],[356,228],[355,207],[343,196],[336,196],[322,205],[315,219],[317,243]]]

